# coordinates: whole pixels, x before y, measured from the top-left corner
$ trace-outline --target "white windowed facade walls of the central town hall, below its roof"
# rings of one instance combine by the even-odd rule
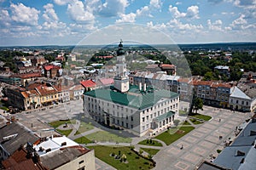
[[[143,136],[148,132],[158,133],[172,126],[173,120],[177,118],[178,108],[179,97],[162,98],[154,105],[141,110],[120,105],[114,101],[84,95],[84,112],[88,111],[96,122],[103,122],[108,126],[124,127],[138,136]],[[174,114],[167,114],[171,111]]]

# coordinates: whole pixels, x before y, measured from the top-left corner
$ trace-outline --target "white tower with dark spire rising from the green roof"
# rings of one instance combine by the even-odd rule
[[[123,49],[122,41],[119,43],[119,49],[117,51],[116,62],[116,76],[113,78],[114,88],[121,93],[128,92],[129,90],[129,77],[127,76],[126,63],[125,63],[125,51]]]

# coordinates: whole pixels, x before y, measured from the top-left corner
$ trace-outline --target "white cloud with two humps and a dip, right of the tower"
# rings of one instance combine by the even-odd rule
[[[187,8],[186,13],[181,13],[178,11],[177,7],[169,6],[169,11],[172,13],[174,18],[193,18],[199,19],[199,8],[196,5],[192,5]]]

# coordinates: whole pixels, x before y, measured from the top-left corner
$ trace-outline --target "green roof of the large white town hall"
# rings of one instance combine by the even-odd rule
[[[177,98],[179,95],[164,89],[153,90],[151,88],[150,90],[147,90],[147,92],[141,92],[136,88],[137,86],[131,86],[129,91],[131,92],[130,94],[117,92],[116,90],[113,90],[113,87],[110,87],[98,88],[86,92],[84,95],[108,100],[113,103],[118,103],[119,105],[125,105],[140,110],[153,106],[162,98],[173,99]]]

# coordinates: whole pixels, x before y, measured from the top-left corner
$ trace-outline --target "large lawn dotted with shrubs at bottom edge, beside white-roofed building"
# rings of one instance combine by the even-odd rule
[[[130,147],[113,147],[113,146],[90,146],[90,149],[95,150],[95,156],[102,161],[105,161],[109,165],[117,169],[151,169],[153,168],[152,162],[142,157],[137,156],[133,151],[130,150]],[[125,154],[128,163],[120,162],[115,160],[112,153],[115,155],[119,154],[120,156]]]

